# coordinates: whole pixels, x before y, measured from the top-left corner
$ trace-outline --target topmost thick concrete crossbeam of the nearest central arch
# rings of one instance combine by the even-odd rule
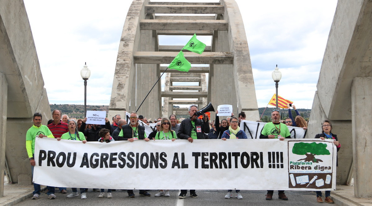
[[[221,5],[145,5],[145,13],[158,14],[223,14]]]

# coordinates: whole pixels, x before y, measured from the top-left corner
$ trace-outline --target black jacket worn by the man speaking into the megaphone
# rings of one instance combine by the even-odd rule
[[[208,123],[208,121],[203,122],[200,119],[196,119],[195,120],[195,127],[196,126],[201,126],[201,128],[202,128],[202,132],[199,132],[199,133],[197,132],[196,133],[196,136],[198,137],[198,139],[205,139],[204,133],[209,133],[209,123]],[[178,130],[178,133],[177,133],[177,137],[180,138],[180,139],[187,140],[187,138],[191,137],[191,127],[192,127],[192,124],[191,124],[191,119],[190,118],[182,120],[182,122],[180,124],[180,129]],[[196,128],[195,128],[195,130],[196,130]]]

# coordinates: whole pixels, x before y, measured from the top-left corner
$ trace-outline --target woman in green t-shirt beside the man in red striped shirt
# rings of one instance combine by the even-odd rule
[[[78,132],[76,130],[77,124],[75,120],[68,120],[68,132],[65,134],[62,134],[61,138],[57,138],[57,141],[60,141],[61,139],[64,140],[77,140],[77,141],[82,141],[84,144],[87,142],[87,140],[84,137],[84,134],[82,132]],[[76,197],[79,196],[77,193],[77,188],[71,188],[72,193],[68,194],[67,197]],[[81,199],[86,199],[87,194],[85,193],[85,188],[80,188],[80,194],[81,194]]]

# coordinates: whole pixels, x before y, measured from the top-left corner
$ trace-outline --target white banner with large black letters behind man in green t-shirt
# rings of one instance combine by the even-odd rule
[[[263,126],[266,122],[255,122],[255,121],[247,121],[242,120],[240,122],[240,129],[243,130],[246,134],[248,139],[259,139],[260,134],[262,132]],[[306,130],[302,127],[291,127],[287,126],[289,133],[291,133],[291,138],[298,139],[298,138],[305,138]]]

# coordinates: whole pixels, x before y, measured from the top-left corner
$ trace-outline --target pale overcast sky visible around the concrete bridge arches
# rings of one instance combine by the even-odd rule
[[[87,104],[109,105],[119,41],[132,1],[24,2],[49,103],[84,104],[80,70],[87,62],[92,72]],[[236,2],[246,30],[258,107],[266,107],[275,93],[271,73],[278,64],[279,95],[297,108],[311,109],[337,0]],[[165,42],[160,37],[160,44],[169,45],[167,38]],[[211,44],[210,37],[198,39]]]

